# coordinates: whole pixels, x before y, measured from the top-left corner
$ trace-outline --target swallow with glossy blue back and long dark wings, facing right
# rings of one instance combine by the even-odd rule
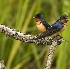
[[[59,35],[62,31],[65,30],[67,22],[68,22],[68,16],[66,14],[63,14],[54,24],[48,27],[46,31],[38,35],[37,38],[40,39],[47,36]]]

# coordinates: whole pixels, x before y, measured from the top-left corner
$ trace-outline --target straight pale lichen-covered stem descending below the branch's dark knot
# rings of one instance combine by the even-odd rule
[[[51,68],[52,57],[56,49],[56,46],[57,46],[57,41],[53,41],[48,52],[48,57],[47,57],[46,66],[45,66],[46,69]]]

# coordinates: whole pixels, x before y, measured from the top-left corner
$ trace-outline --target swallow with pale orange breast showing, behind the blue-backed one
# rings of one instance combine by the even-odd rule
[[[38,13],[33,18],[36,20],[36,27],[40,32],[45,32],[47,28],[50,27],[42,14]]]

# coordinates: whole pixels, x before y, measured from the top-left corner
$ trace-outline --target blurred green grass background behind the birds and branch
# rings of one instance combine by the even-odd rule
[[[33,16],[44,15],[51,25],[62,14],[70,19],[70,0],[0,0],[0,23],[27,34],[39,34]],[[70,21],[69,21],[70,22]],[[61,35],[70,41],[70,24]],[[44,68],[50,46],[23,43],[0,33],[0,59],[7,68],[39,69]],[[70,68],[70,42],[63,42],[56,48],[52,59],[56,69]]]

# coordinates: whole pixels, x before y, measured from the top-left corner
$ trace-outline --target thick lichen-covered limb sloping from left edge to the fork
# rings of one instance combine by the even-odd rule
[[[2,24],[0,24],[0,32],[4,33],[8,37],[12,37],[16,40],[20,40],[25,43],[28,42],[28,43],[35,43],[35,44],[51,45],[53,41],[53,38],[50,38],[50,37],[37,39],[37,36],[21,33],[19,30],[11,29]]]

